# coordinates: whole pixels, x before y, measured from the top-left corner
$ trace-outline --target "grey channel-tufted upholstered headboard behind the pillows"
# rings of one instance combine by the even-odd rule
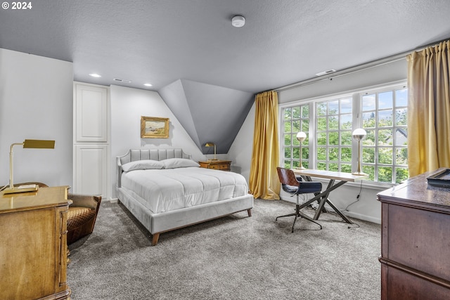
[[[117,156],[117,187],[120,188],[120,178],[122,175],[122,164],[127,162],[135,162],[142,159],[162,160],[167,158],[187,158],[192,156],[183,152],[183,149],[178,148],[160,148],[160,149],[130,149],[127,154]]]

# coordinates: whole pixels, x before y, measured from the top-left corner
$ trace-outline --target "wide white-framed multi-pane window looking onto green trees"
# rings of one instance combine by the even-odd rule
[[[304,131],[307,133],[302,143],[304,167],[342,172],[356,170],[358,149],[352,131],[362,127],[367,136],[362,141],[361,165],[369,175],[368,180],[404,181],[408,178],[407,99],[408,89],[402,84],[283,107],[284,167],[300,166],[300,142],[296,135]]]

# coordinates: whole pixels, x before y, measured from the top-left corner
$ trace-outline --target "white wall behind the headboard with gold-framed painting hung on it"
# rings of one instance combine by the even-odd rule
[[[130,148],[183,148],[194,160],[205,159],[157,92],[110,86],[110,100],[113,198],[116,197],[116,157],[126,154]],[[169,118],[169,138],[141,138],[141,116]]]

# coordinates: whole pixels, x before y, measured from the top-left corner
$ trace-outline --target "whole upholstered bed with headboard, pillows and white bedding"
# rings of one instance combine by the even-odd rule
[[[198,166],[174,148],[130,149],[117,157],[117,197],[150,232],[152,246],[170,230],[238,211],[252,216],[242,175]]]

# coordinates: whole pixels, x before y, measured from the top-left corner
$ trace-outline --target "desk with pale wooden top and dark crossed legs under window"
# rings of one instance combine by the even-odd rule
[[[307,207],[309,204],[311,204],[314,201],[319,201],[319,207],[316,209],[316,214],[314,214],[314,220],[319,219],[319,216],[321,215],[321,212],[323,211],[323,206],[328,203],[331,208],[333,208],[334,211],[347,223],[353,224],[350,219],[345,216],[345,214],[342,214],[340,209],[338,207],[335,207],[335,204],[331,202],[331,200],[328,198],[328,195],[335,190],[336,188],[339,188],[341,185],[345,184],[347,181],[354,182],[354,181],[361,181],[368,177],[368,175],[353,175],[351,173],[344,173],[344,172],[335,172],[335,171],[323,171],[323,170],[309,170],[309,169],[293,169],[295,175],[302,176],[304,180],[306,181],[312,181],[311,177],[316,178],[326,178],[330,179],[330,182],[328,182],[328,186],[326,190],[324,190],[322,193],[315,193],[315,197],[311,198],[307,202],[304,202],[304,204],[300,205],[300,209],[303,207]],[[338,180],[338,183],[335,181]]]

